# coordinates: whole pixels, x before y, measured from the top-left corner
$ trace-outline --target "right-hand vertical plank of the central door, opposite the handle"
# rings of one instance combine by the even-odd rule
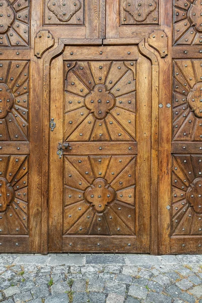
[[[136,231],[138,251],[150,246],[150,146],[151,146],[151,64],[139,55],[137,61],[137,185]],[[146,121],[146,122],[145,122]]]

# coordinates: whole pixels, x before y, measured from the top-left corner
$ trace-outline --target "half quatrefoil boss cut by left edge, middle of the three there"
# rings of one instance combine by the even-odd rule
[[[5,83],[0,83],[0,118],[5,118],[14,104],[14,95]]]

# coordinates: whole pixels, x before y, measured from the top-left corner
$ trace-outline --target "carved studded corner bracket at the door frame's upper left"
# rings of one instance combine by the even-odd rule
[[[47,49],[54,46],[55,39],[49,30],[39,30],[34,39],[34,55],[41,58]]]

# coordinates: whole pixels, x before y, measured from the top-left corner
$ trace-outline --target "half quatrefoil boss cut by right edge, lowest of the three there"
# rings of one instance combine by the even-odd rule
[[[186,199],[194,212],[202,213],[202,178],[193,180],[186,192]]]

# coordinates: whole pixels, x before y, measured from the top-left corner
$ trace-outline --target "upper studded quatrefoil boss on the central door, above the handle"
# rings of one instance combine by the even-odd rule
[[[95,118],[103,119],[115,106],[115,97],[107,91],[105,85],[97,84],[85,97],[85,106],[94,114]]]

